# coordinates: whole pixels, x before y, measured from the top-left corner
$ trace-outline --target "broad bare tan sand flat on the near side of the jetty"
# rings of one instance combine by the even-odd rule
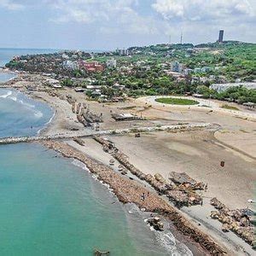
[[[249,207],[256,180],[256,163],[215,143],[211,131],[156,132],[110,138],[145,173],[187,172],[208,184],[206,196],[217,196],[230,208]],[[225,166],[220,166],[220,161]]]

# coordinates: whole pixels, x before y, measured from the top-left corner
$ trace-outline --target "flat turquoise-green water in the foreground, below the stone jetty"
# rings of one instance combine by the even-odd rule
[[[55,155],[38,144],[0,147],[1,255],[141,255],[108,189]]]

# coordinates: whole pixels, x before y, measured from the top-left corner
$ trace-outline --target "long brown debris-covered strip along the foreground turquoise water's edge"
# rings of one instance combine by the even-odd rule
[[[41,142],[45,147],[54,149],[67,158],[73,158],[83,162],[91,173],[95,174],[103,183],[107,183],[113,193],[123,203],[134,203],[137,207],[147,212],[156,212],[172,221],[172,224],[178,231],[187,236],[191,241],[194,241],[201,247],[203,251],[211,255],[223,255],[225,249],[218,246],[210,236],[203,234],[193,224],[184,218],[181,213],[169,205],[165,200],[160,198],[156,193],[144,188],[135,181],[129,178],[122,177],[114,172],[108,166],[91,159],[87,155],[79,152],[79,150],[67,145],[67,143],[56,141]],[[142,200],[142,195],[146,195]]]

